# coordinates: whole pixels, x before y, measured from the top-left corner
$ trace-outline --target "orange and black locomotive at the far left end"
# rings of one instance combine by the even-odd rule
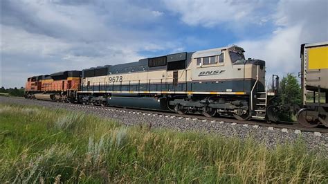
[[[25,97],[38,100],[73,102],[80,90],[81,71],[64,71],[28,78]]]

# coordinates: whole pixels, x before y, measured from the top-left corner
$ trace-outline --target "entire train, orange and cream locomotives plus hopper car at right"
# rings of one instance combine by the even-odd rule
[[[318,47],[327,51],[327,45]],[[303,48],[308,49],[307,45]],[[277,122],[279,77],[273,75],[272,86],[267,87],[265,62],[245,59],[244,52],[239,46],[226,46],[29,77],[25,97]],[[306,66],[307,62],[302,64]],[[327,68],[320,68],[320,64],[318,67],[322,71],[321,81],[314,91],[321,94],[328,89],[321,84],[323,81],[327,84]],[[309,76],[306,68],[302,74],[305,81],[305,76]],[[307,84],[304,83],[304,91],[308,89]],[[320,104],[320,100],[318,108],[313,105],[304,104],[298,115],[300,122],[308,127],[327,126],[322,123],[322,120],[327,122],[327,107]],[[311,113],[318,111],[318,115]],[[313,123],[308,116],[317,117],[319,121]]]

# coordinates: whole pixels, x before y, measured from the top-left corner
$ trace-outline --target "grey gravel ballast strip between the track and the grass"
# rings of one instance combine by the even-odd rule
[[[181,118],[178,116],[161,115],[161,112],[149,111],[138,113],[125,109],[111,109],[102,107],[81,106],[76,104],[63,104],[60,102],[48,102],[41,100],[26,100],[24,98],[8,98],[0,96],[1,104],[26,104],[39,105],[48,108],[62,108],[73,111],[85,111],[97,116],[111,118],[124,125],[151,125],[154,128],[174,129],[177,131],[202,131],[219,134],[226,137],[248,138],[253,137],[259,142],[264,142],[267,147],[275,147],[277,143],[292,143],[302,140],[311,151],[318,151],[328,157],[328,134],[295,131],[292,129],[276,129],[273,127],[261,127],[254,125],[242,125],[238,123],[222,122],[221,120],[199,120],[195,118]]]

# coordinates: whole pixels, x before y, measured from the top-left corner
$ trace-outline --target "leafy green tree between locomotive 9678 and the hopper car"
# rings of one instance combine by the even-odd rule
[[[295,75],[287,73],[280,82],[280,100],[283,105],[282,120],[293,120],[293,109],[302,104],[300,83]]]

